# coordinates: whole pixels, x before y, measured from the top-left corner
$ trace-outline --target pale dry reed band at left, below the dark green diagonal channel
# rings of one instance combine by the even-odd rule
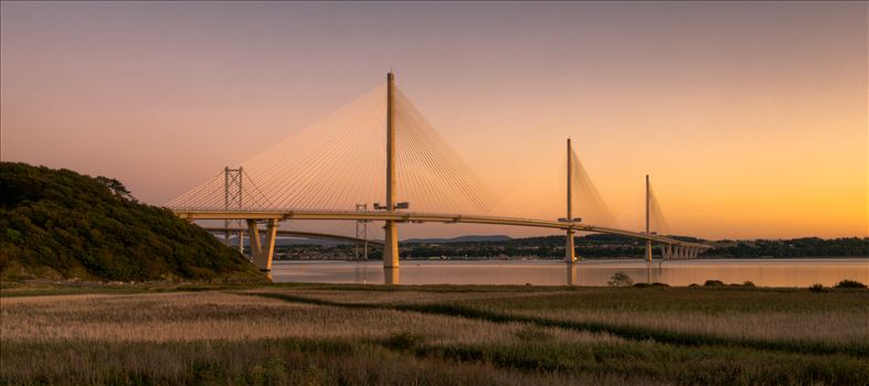
[[[279,337],[385,339],[410,333],[426,343],[511,343],[526,329],[394,310],[347,310],[262,297],[188,292],[0,299],[0,339],[173,342]],[[545,329],[565,342],[617,341],[605,334]]]

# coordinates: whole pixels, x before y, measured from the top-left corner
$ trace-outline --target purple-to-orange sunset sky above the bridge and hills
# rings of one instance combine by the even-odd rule
[[[0,8],[2,160],[115,176],[147,203],[393,68],[496,190],[571,136],[626,228],[649,173],[680,234],[869,236],[866,2]]]

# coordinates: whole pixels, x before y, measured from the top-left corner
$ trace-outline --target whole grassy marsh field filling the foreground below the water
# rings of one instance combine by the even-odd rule
[[[4,283],[0,384],[869,385],[869,291]]]

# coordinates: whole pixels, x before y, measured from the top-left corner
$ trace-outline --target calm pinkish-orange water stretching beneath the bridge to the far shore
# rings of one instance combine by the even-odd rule
[[[402,285],[606,286],[616,271],[634,282],[670,286],[752,281],[764,287],[833,286],[842,279],[869,282],[869,257],[839,259],[717,259],[658,261],[587,260],[569,268],[561,261],[413,261],[402,260]],[[386,272],[393,276],[392,272]],[[383,283],[380,261],[276,261],[272,278],[283,282]]]

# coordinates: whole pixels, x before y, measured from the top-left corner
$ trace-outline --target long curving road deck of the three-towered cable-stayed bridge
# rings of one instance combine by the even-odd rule
[[[516,217],[496,217],[462,214],[414,213],[414,212],[329,212],[329,211],[209,211],[173,208],[176,215],[188,221],[194,219],[339,219],[339,221],[395,221],[402,223],[465,223],[603,233],[651,240],[674,246],[707,249],[708,245],[682,242],[670,237],[640,232],[610,228],[580,222],[559,222]]]

